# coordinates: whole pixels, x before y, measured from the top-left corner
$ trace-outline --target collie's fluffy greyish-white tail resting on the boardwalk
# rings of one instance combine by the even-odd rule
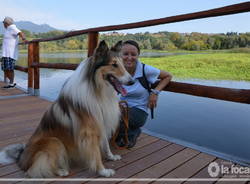
[[[16,162],[24,150],[25,144],[12,144],[0,151],[0,164]]]

